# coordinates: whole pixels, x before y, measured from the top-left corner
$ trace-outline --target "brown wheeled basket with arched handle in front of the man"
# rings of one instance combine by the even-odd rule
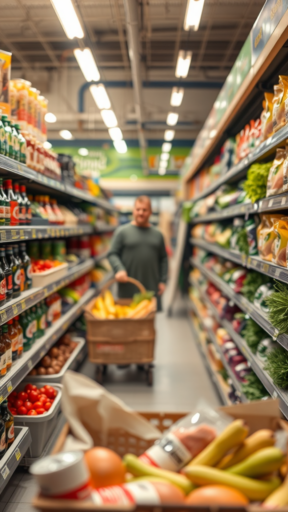
[[[145,293],[145,287],[136,279],[128,278],[129,283],[137,286]],[[102,289],[104,293],[115,279],[109,281]],[[120,298],[115,304],[129,305],[132,298]],[[87,324],[88,354],[91,362],[96,363],[96,380],[102,382],[105,365],[143,365],[147,374],[148,384],[153,381],[151,363],[154,358],[155,328],[154,318],[157,309],[156,298],[152,298],[154,310],[145,318],[95,318],[91,310],[95,298],[85,308]]]

